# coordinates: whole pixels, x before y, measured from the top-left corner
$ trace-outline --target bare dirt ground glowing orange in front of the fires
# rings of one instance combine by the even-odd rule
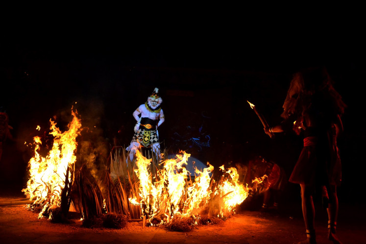
[[[2,187],[0,202],[23,198],[19,189]],[[7,189],[7,191],[4,191]],[[161,227],[144,227],[141,222],[128,222],[123,229],[94,228],[81,225],[79,219],[70,223],[52,223],[38,219],[38,213],[27,205],[0,206],[0,243],[248,243],[290,244],[305,238],[301,203],[284,201],[276,212],[259,209],[238,211],[221,224],[196,226],[189,232],[175,232]],[[316,207],[321,207],[316,204]],[[366,243],[365,206],[340,203],[338,236],[344,244]],[[317,209],[317,243],[326,239],[327,216]]]

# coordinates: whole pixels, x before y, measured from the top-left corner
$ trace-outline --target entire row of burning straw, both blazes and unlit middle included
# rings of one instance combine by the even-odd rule
[[[143,219],[149,226],[188,231],[197,224],[231,217],[249,191],[263,182],[258,179],[249,187],[239,182],[235,168],[223,166],[219,168],[222,175],[214,179],[209,163],[202,171],[195,169],[191,177],[186,169],[190,154],[184,151],[174,159],[164,159],[162,154],[157,162],[157,157],[148,159],[137,150],[130,162],[122,146],[114,146],[97,170],[97,149],[83,151],[91,147],[87,142],[81,142],[86,156],[79,157],[75,167],[81,122],[73,110],[72,115],[65,132],[50,120],[54,140],[46,157],[38,153],[40,138],[34,138],[35,156],[29,161],[30,179],[23,192],[34,201],[31,208],[40,211],[39,218],[65,221],[73,206],[86,227],[122,228],[126,221]]]

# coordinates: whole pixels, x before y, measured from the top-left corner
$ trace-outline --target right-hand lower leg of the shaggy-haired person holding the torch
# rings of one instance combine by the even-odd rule
[[[338,218],[338,197],[336,186],[329,187],[329,205],[328,212],[328,239],[336,244],[341,244],[336,235],[337,218]]]

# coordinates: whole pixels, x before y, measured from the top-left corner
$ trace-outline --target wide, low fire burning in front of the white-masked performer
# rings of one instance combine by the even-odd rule
[[[174,218],[190,217],[197,222],[202,215],[225,218],[235,211],[249,195],[249,191],[263,182],[253,180],[252,188],[239,182],[236,168],[220,167],[222,176],[217,182],[212,178],[214,167],[208,163],[203,171],[195,170],[191,179],[186,170],[190,154],[181,152],[175,159],[164,160],[156,177],[149,172],[151,159],[145,158],[137,150],[135,170],[140,180],[139,195],[130,202],[139,204],[142,216],[151,225],[168,223]]]

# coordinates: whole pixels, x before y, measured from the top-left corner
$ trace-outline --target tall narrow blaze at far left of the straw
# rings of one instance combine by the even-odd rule
[[[34,156],[29,160],[29,175],[27,187],[22,190],[30,199],[35,200],[33,205],[43,206],[39,217],[53,207],[61,204],[61,192],[65,187],[65,181],[72,180],[72,174],[68,169],[74,169],[76,156],[76,137],[80,133],[81,122],[76,117],[77,112],[72,111],[73,120],[68,124],[69,130],[61,132],[56,127],[56,122],[50,121],[50,132],[53,136],[53,146],[46,157],[39,154],[42,145],[41,138],[34,137]],[[38,128],[38,127],[37,127]],[[68,178],[66,179],[66,176]]]

